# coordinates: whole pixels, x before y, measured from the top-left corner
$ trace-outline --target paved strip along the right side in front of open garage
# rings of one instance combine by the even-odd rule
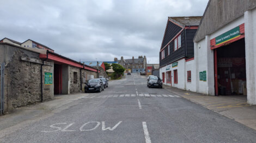
[[[256,130],[256,106],[248,105],[245,95],[207,96],[165,85],[164,88]]]

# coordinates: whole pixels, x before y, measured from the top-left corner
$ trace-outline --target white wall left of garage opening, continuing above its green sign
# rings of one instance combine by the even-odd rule
[[[210,49],[210,40],[224,32],[227,32],[241,24],[245,23],[243,16],[235,19],[211,35],[206,35],[199,42],[194,43],[194,69],[196,70],[196,92],[208,95],[215,95],[214,87],[214,50]],[[206,82],[199,80],[199,72],[206,71]]]

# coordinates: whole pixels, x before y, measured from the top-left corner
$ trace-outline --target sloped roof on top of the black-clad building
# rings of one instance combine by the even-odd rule
[[[187,16],[187,17],[168,17],[173,22],[176,22],[182,26],[198,26],[200,24],[202,16]]]

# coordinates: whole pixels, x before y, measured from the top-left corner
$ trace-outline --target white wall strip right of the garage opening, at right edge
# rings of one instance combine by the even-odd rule
[[[245,54],[247,100],[256,105],[256,9],[245,12]]]

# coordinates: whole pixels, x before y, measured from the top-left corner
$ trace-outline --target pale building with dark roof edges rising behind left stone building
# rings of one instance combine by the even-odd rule
[[[20,42],[17,42],[15,40],[11,40],[10,38],[5,37],[2,40],[0,40],[0,43],[10,43],[10,44],[14,44],[15,46],[20,46],[20,47],[24,47],[24,48],[28,48],[28,49],[36,48],[36,49],[43,49],[43,50],[48,50],[48,51],[54,52],[53,49],[51,49],[47,46],[44,46],[43,44],[40,44],[38,42],[35,42],[33,40],[30,40],[30,39],[23,43],[20,43]]]

